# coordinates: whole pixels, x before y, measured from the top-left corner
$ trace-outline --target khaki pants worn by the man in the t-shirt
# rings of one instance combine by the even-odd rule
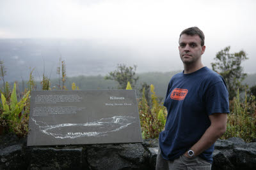
[[[159,148],[157,153],[156,170],[211,170],[211,163],[200,157],[190,159],[181,155],[179,159],[170,161],[163,159],[160,150],[161,149]]]

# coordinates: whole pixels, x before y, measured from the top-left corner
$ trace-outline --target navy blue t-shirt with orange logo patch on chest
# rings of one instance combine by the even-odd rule
[[[159,134],[164,159],[174,160],[189,150],[211,125],[212,113],[229,113],[228,91],[223,78],[207,67],[175,74],[168,85],[164,106],[165,130]],[[212,163],[214,145],[199,157]]]

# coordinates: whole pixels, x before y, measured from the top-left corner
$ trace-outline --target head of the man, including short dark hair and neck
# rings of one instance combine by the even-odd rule
[[[180,33],[179,52],[184,64],[202,65],[201,55],[204,51],[204,33],[198,27],[191,27]]]

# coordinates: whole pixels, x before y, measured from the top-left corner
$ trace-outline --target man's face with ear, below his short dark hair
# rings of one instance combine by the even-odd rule
[[[201,55],[205,51],[205,46],[201,46],[201,39],[198,35],[182,34],[179,41],[179,51],[182,62],[184,64],[192,64],[200,61]]]

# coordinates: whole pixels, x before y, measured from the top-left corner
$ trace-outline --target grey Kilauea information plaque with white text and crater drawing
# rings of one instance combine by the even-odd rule
[[[31,92],[28,146],[140,142],[135,90]]]

